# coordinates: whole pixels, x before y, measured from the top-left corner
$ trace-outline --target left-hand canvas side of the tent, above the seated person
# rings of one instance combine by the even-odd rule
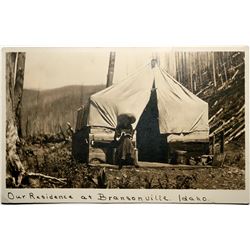
[[[132,113],[135,128],[149,101],[152,83],[153,72],[147,67],[133,78],[92,95],[88,125],[115,128],[119,115]]]

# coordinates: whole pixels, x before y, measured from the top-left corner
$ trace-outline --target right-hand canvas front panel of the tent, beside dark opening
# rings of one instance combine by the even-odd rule
[[[168,76],[154,69],[161,133],[208,131],[208,104]]]

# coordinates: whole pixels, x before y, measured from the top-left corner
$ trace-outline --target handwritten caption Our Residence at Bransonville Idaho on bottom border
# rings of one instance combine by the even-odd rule
[[[25,194],[15,194],[8,192],[7,198],[10,202],[208,202],[206,196],[190,196],[177,194],[169,198],[167,195],[150,194],[150,195],[110,195],[110,194],[55,194],[28,192]]]

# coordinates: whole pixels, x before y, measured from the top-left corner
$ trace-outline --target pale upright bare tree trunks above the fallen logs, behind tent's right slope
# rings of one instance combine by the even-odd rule
[[[240,51],[173,52],[166,53],[161,66],[193,93],[213,86],[221,90],[228,81],[239,73],[245,54]],[[239,72],[241,71],[241,72]],[[243,73],[243,75],[242,75]]]

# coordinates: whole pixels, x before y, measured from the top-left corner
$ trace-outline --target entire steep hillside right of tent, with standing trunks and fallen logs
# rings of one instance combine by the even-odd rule
[[[174,60],[171,60],[174,58]],[[209,104],[210,136],[215,143],[244,142],[245,54],[239,51],[166,54],[166,70]],[[244,144],[242,145],[244,147]]]

